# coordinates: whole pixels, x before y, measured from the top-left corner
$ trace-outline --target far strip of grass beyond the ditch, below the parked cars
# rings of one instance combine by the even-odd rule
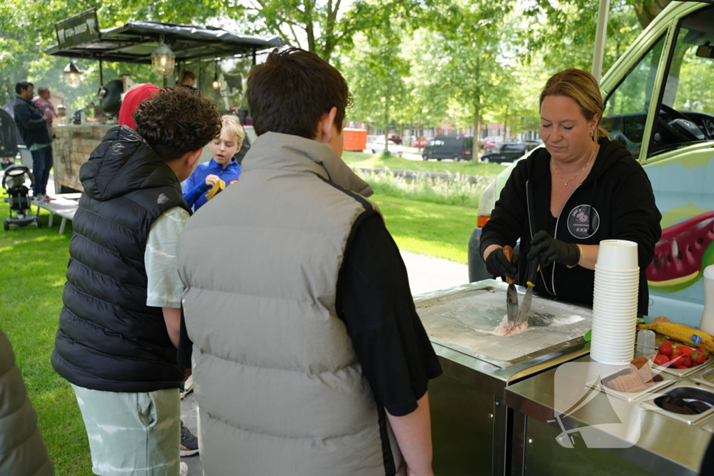
[[[423,172],[466,173],[468,175],[497,176],[506,168],[498,163],[480,162],[438,162],[410,161],[408,158],[391,156],[382,158],[381,154],[370,155],[363,152],[344,151],[342,160],[351,167],[388,167],[392,170],[406,169]]]

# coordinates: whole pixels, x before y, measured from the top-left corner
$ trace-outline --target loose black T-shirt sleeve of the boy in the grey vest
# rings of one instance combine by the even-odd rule
[[[399,249],[376,211],[365,212],[351,233],[337,311],[378,402],[394,416],[416,410],[441,365],[414,308]]]

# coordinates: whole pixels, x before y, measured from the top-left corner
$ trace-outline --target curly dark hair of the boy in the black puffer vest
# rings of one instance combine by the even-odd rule
[[[134,123],[164,161],[175,161],[221,135],[218,108],[201,91],[182,87],[162,89],[139,104]]]

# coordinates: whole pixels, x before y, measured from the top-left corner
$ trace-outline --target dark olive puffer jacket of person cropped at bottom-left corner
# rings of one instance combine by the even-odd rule
[[[0,330],[0,475],[52,476],[54,469],[37,429],[20,369]]]

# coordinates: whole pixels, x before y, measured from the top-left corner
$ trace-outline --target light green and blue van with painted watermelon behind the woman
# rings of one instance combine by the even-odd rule
[[[703,269],[712,263],[714,249],[712,25],[710,3],[673,1],[600,81],[605,101],[600,126],[643,166],[662,214],[662,236],[646,269],[649,314],[692,327],[703,313]],[[468,243],[472,282],[491,277],[479,253],[481,227],[515,166],[501,172],[478,203]]]

